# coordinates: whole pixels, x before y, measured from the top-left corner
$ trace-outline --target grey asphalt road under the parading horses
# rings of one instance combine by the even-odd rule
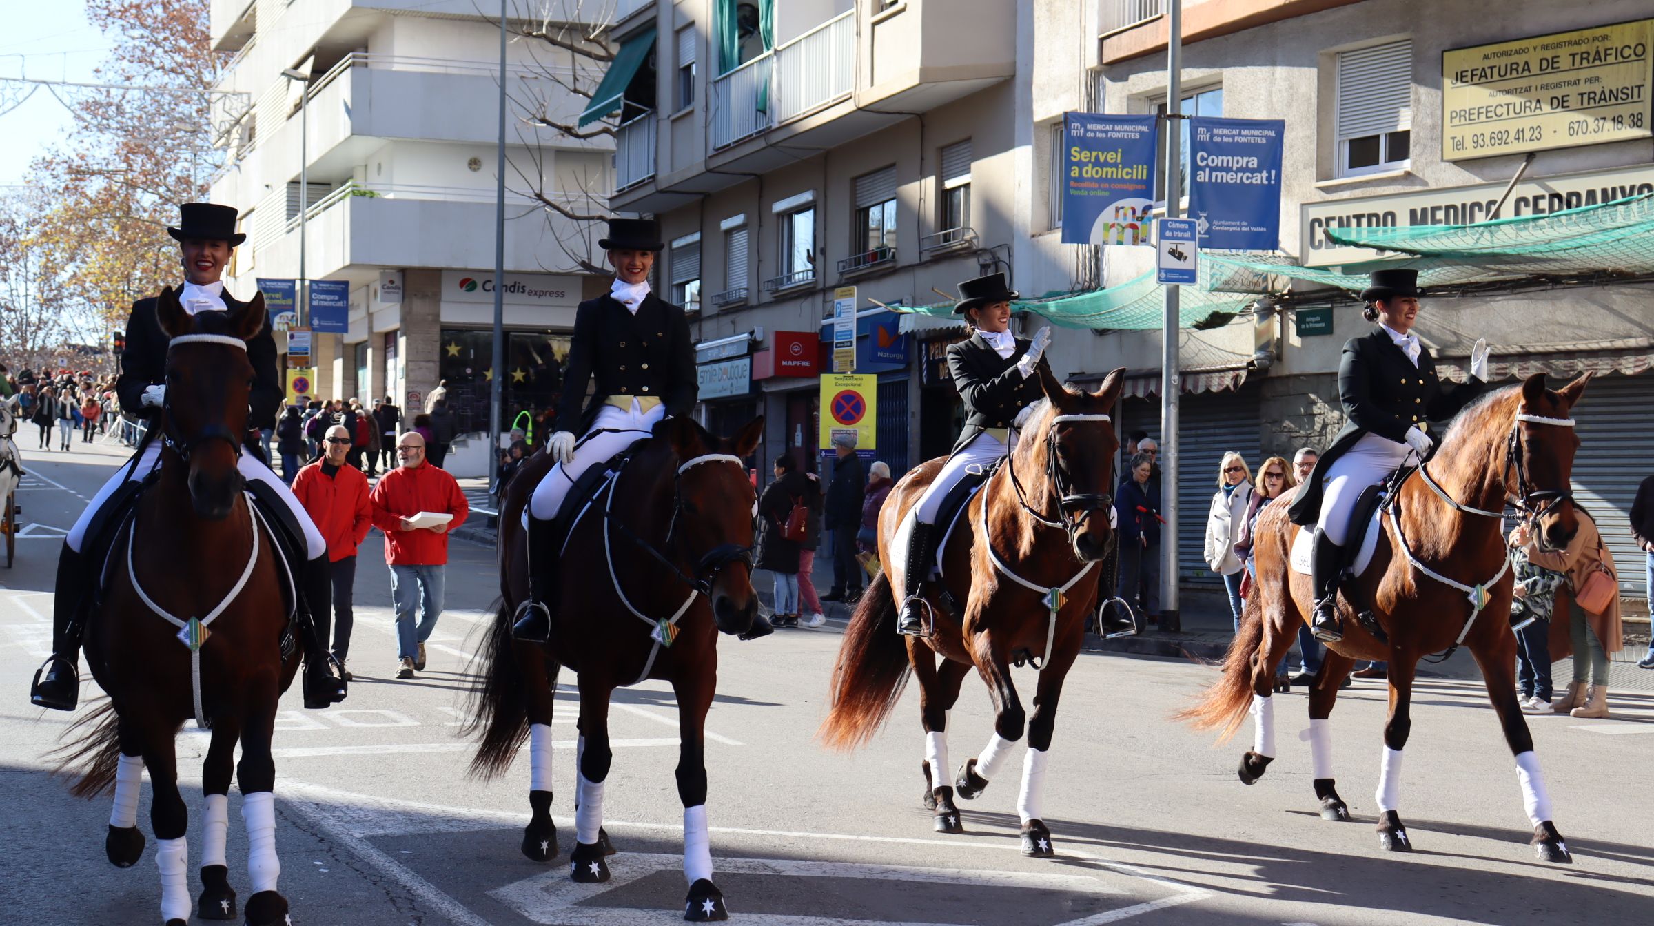
[[[23,440],[23,443],[31,443]],[[26,706],[50,647],[58,539],[119,461],[114,450],[26,451],[25,532],[0,574],[0,919],[155,923],[154,842],[131,870],[103,853],[109,800],[74,800],[43,754],[69,716]],[[571,885],[566,857],[536,865],[518,852],[528,817],[528,761],[496,782],[465,777],[457,737],[465,665],[493,597],[491,551],[457,542],[450,610],[430,668],[395,681],[385,569],[377,534],[362,551],[357,630],[344,704],[283,701],[276,734],[281,888],[301,924],[643,924],[681,911],[681,809],[675,709],[660,683],[625,690],[612,713],[615,764],[607,828],[620,848],[609,885]],[[855,923],[1394,924],[1649,923],[1649,771],[1654,699],[1616,701],[1623,719],[1532,721],[1556,822],[1573,866],[1533,860],[1513,762],[1475,683],[1419,685],[1403,782],[1403,819],[1417,852],[1384,855],[1373,787],[1384,690],[1358,683],[1335,713],[1340,785],[1356,822],[1315,815],[1302,694],[1282,696],[1280,757],[1255,787],[1236,780],[1244,746],[1174,724],[1168,714],[1216,675],[1169,660],[1087,653],[1068,678],[1045,792],[1059,858],[1017,855],[1016,780],[1002,772],[961,804],[968,832],[944,837],[920,805],[921,733],[910,688],[893,724],[853,756],[824,752],[812,733],[842,625],[754,643],[721,642],[708,729],[710,822],[718,883],[734,919],[786,926]],[[1019,670],[1029,691],[1032,670]],[[88,686],[86,698],[93,694]],[[557,718],[557,815],[572,843],[572,693]],[[966,683],[953,713],[953,762],[987,739],[984,688]],[[190,802],[192,891],[200,858],[200,756],[179,754]],[[1019,762],[1007,762],[1007,769]],[[238,805],[240,797],[232,797]],[[149,787],[141,828],[149,832]],[[245,837],[232,812],[232,883],[243,891]]]

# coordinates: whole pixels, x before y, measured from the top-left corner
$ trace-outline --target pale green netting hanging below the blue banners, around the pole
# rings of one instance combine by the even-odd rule
[[[1163,327],[1166,317],[1164,289],[1164,286],[1154,283],[1154,271],[1148,271],[1136,279],[1107,289],[1054,293],[1037,299],[1016,299],[1011,303],[1011,309],[1034,313],[1062,327],[1158,331]],[[1250,298],[1232,293],[1207,293],[1194,286],[1184,286],[1181,296],[1179,321],[1183,327],[1216,327],[1252,303]],[[898,311],[951,317],[953,303],[900,306]]]

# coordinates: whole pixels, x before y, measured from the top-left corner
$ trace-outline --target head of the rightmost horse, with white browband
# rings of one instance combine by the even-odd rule
[[[1522,384],[1507,445],[1505,491],[1527,513],[1528,529],[1543,551],[1566,547],[1580,531],[1570,488],[1580,435],[1568,415],[1588,382],[1591,374],[1551,390],[1545,389],[1545,374],[1533,374]]]

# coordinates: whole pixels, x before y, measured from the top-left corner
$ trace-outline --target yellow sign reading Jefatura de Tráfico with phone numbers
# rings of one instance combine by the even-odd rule
[[[1442,51],[1442,160],[1646,139],[1654,20]]]

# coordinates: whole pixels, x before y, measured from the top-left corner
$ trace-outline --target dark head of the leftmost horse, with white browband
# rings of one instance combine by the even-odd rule
[[[195,514],[218,521],[241,491],[237,458],[246,435],[253,364],[246,341],[265,326],[265,298],[228,313],[189,314],[179,293],[162,289],[155,304],[167,346],[167,397],[160,428],[167,446],[189,466]]]

